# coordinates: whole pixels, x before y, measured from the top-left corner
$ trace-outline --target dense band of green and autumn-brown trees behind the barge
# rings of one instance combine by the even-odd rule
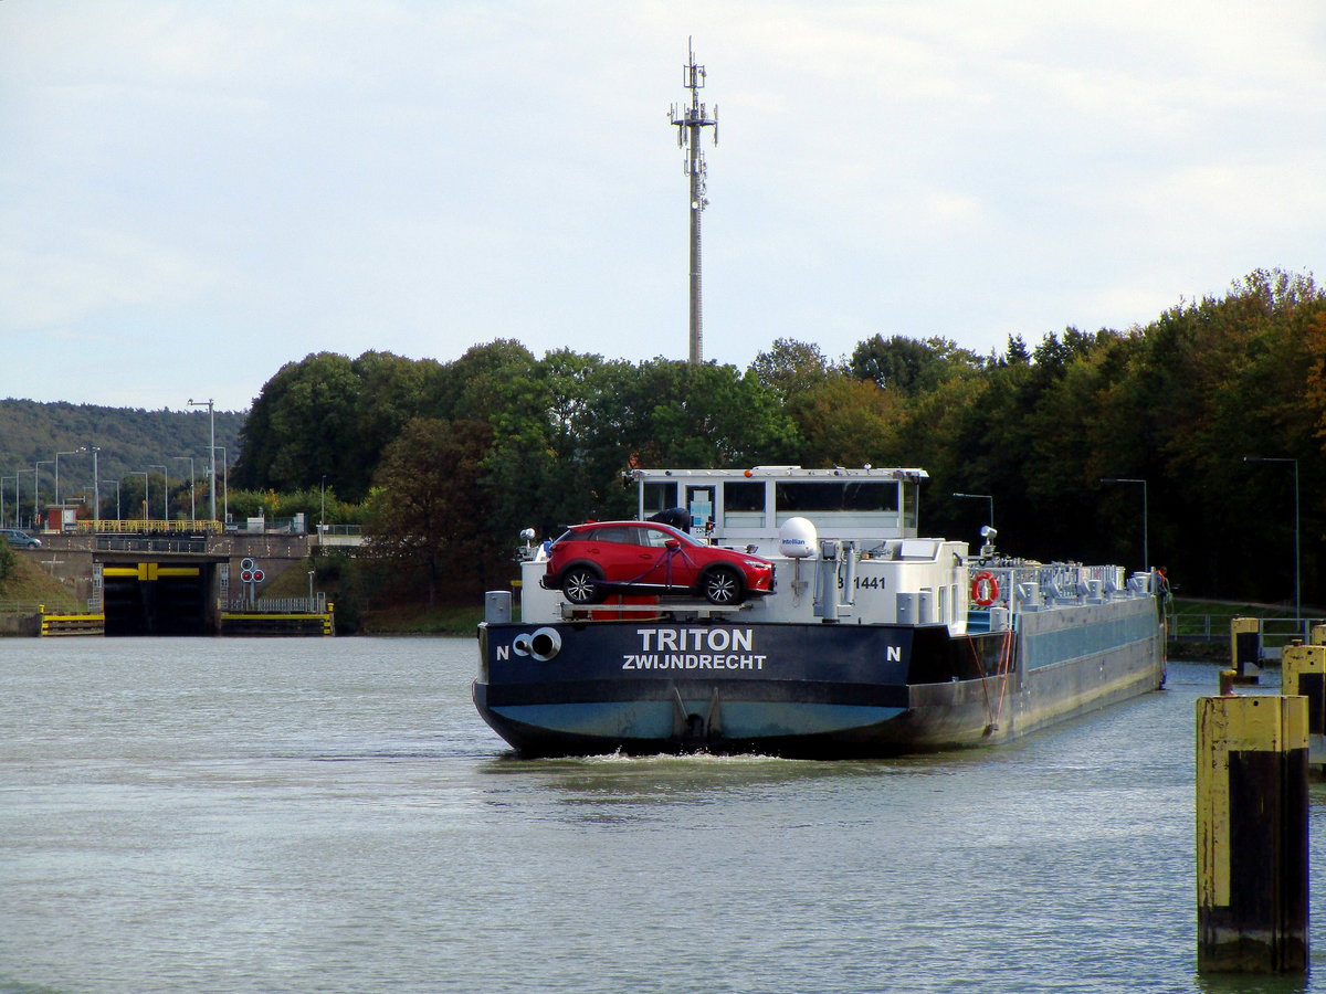
[[[505,583],[522,527],[629,516],[627,467],[920,467],[928,534],[975,545],[989,502],[951,494],[983,494],[1008,554],[1138,569],[1144,549],[1180,594],[1281,603],[1297,559],[1322,603],[1323,357],[1326,294],[1282,270],[991,355],[882,334],[838,358],[780,339],[745,370],[509,339],[450,363],[318,353],[264,386],[231,481],[332,488],[431,592],[471,595]]]

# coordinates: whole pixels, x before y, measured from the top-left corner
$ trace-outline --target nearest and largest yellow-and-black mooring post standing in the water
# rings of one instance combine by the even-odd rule
[[[1197,698],[1197,969],[1307,970],[1307,700]]]

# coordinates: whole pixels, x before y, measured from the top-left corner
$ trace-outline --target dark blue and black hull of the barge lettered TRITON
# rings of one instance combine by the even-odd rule
[[[480,626],[483,718],[521,755],[805,758],[1005,742],[1163,683],[1154,600],[943,626]]]

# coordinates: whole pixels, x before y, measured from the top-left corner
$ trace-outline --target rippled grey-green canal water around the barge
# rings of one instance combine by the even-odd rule
[[[472,639],[0,640],[0,991],[1326,991],[1195,973],[1193,700],[517,761]],[[1326,888],[1326,795],[1311,806]],[[1313,904],[1321,908],[1314,895]]]

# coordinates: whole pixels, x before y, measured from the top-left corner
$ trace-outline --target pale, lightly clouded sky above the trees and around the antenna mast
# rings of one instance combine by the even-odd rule
[[[0,398],[1127,330],[1326,232],[1326,4],[0,0]]]

